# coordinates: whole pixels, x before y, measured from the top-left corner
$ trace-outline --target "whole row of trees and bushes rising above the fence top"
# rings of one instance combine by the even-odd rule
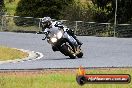
[[[15,1],[15,0],[9,0]],[[114,22],[116,0],[20,0],[14,15]],[[132,0],[117,0],[117,23],[132,23]],[[0,10],[4,0],[0,0]]]

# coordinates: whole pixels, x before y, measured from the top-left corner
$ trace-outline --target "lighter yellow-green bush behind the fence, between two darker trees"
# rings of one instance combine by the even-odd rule
[[[85,0],[83,0],[85,1]],[[93,6],[89,1],[74,0],[64,11],[63,19],[71,21],[93,21]]]

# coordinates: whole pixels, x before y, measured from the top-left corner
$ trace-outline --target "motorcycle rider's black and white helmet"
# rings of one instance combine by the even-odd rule
[[[41,19],[41,26],[42,28],[49,28],[51,25],[51,18],[50,17],[44,17]]]

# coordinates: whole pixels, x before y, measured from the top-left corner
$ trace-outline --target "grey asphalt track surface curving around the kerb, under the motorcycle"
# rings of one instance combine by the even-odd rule
[[[83,58],[69,59],[53,52],[42,34],[0,32],[0,45],[43,53],[39,60],[0,64],[0,69],[132,67],[132,38],[78,36]]]

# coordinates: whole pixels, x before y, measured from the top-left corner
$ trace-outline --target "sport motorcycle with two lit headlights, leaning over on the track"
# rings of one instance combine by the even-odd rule
[[[68,39],[64,38],[64,30],[60,29],[55,33],[46,32],[44,39],[47,39],[47,42],[51,44],[53,51],[60,51],[65,56],[69,56],[71,59],[76,57],[82,58],[83,52],[81,51],[81,45],[75,47]],[[73,38],[72,36],[70,36]]]

